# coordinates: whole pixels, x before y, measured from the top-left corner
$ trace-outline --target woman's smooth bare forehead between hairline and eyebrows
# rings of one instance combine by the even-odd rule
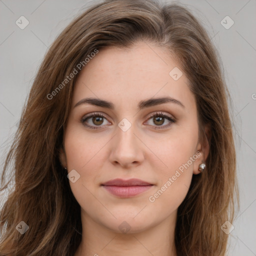
[[[179,72],[178,76],[182,72],[166,48],[153,44],[99,49],[79,73],[72,105],[85,96],[129,105],[154,96],[171,96],[191,107],[195,101],[184,72],[175,80],[172,70]]]

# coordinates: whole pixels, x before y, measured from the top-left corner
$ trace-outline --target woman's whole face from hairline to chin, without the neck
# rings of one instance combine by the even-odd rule
[[[81,70],[60,154],[83,218],[115,232],[173,221],[205,150],[184,72],[148,45],[101,49]]]

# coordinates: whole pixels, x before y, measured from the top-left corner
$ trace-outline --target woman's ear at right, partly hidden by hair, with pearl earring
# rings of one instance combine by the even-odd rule
[[[197,159],[194,161],[193,165],[193,174],[199,174],[199,164],[205,163],[206,158],[209,154],[209,142],[211,139],[211,128],[210,124],[204,126],[202,134],[200,134],[198,139],[198,144],[196,148],[196,154],[198,155]],[[207,166],[206,166],[207,168]]]

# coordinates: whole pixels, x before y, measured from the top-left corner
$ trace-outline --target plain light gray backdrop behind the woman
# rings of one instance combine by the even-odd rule
[[[0,0],[1,169],[22,106],[47,48],[61,30],[82,12],[81,8],[93,2]],[[188,7],[210,34],[221,56],[232,98],[241,204],[238,217],[233,223],[234,229],[230,233],[228,255],[256,255],[256,1],[178,2]],[[24,29],[15,24],[21,15],[29,21]],[[229,29],[224,28],[220,22],[226,15],[234,21]]]

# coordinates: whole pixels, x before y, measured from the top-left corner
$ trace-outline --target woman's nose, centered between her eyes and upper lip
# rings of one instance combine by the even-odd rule
[[[116,127],[116,135],[111,140],[111,152],[109,160],[114,165],[130,168],[141,164],[144,159],[143,143],[138,138],[138,134],[133,125],[123,131]]]

